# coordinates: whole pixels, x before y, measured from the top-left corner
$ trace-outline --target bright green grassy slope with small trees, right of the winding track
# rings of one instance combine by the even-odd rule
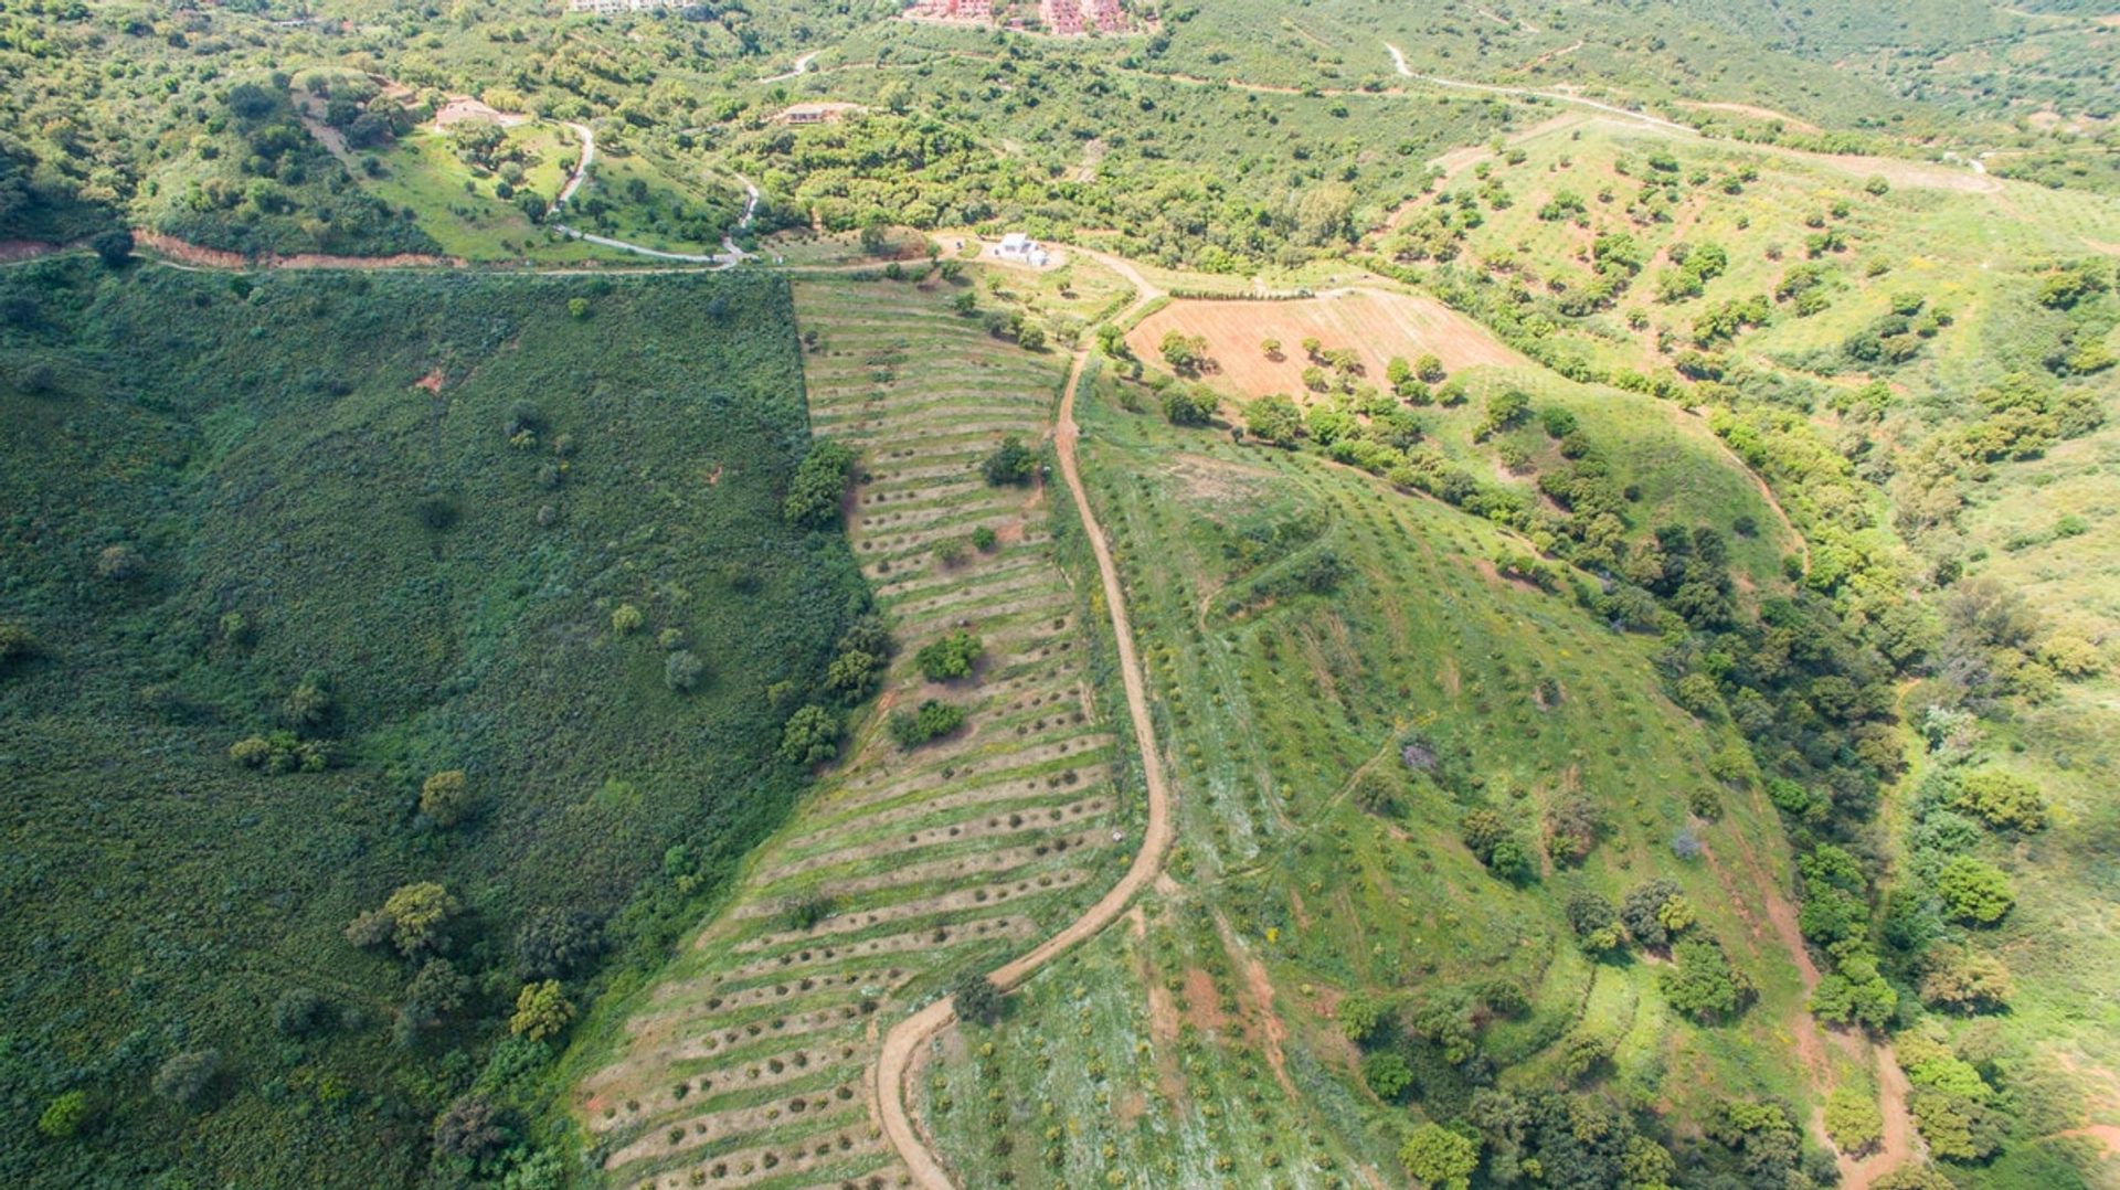
[[[1499,532],[1437,503],[1119,412],[1109,388],[1081,420],[1183,789],[1181,844],[1132,929],[1041,974],[937,1067],[929,1118],[969,1184],[1391,1182],[1408,1118],[1365,1090],[1336,1005],[1450,1003],[1497,980],[1529,1001],[1471,1010],[1501,1086],[1567,1082],[1562,1042],[1594,1035],[1611,1056],[1582,1086],[1679,1120],[1724,1095],[1817,1092],[1789,1063],[1817,1037],[1757,893],[1787,880],[1774,812],[1709,774],[1717,730],[1664,700],[1645,643],[1495,575]],[[1336,590],[1261,594],[1319,552],[1346,566]],[[1410,772],[1408,742],[1444,768]],[[1397,810],[1357,806],[1365,778]],[[1539,832],[1577,791],[1607,821],[1582,868],[1545,861],[1512,887],[1456,840],[1471,806]],[[1717,821],[1692,815],[1696,791]],[[1673,853],[1681,834],[1704,844],[1694,859]],[[1577,952],[1562,891],[1618,899],[1649,876],[1679,880],[1757,980],[1736,1022],[1671,1012],[1656,963]],[[1857,1078],[1836,1048],[1808,1056],[1821,1080]],[[1414,1067],[1423,1112],[1463,1109],[1452,1067]],[[1681,1162],[1719,1160],[1675,1128]]]

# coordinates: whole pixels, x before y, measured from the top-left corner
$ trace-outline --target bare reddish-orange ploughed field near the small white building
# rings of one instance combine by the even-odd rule
[[[1215,371],[1206,380],[1238,397],[1304,390],[1302,342],[1317,337],[1325,350],[1353,348],[1376,386],[1384,384],[1391,356],[1408,363],[1433,352],[1444,367],[1522,363],[1478,322],[1429,297],[1372,288],[1300,301],[1172,301],[1145,318],[1126,342],[1145,361],[1160,361],[1166,333],[1206,337]],[[1266,358],[1261,339],[1280,339],[1280,358]]]

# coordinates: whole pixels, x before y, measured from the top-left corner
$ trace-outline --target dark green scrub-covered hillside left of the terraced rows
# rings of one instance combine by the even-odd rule
[[[659,955],[801,785],[765,689],[820,683],[865,592],[780,520],[787,282],[72,257],[0,299],[0,622],[30,641],[0,668],[0,1177],[413,1182],[505,1035],[517,925]],[[231,759],[276,730],[322,770]],[[420,812],[439,770],[456,825]],[[418,880],[464,906],[469,986],[392,1042],[413,965],[341,931]],[[276,1029],[297,988],[307,1033]],[[220,1054],[197,1114],[148,1090],[189,1050]],[[38,1135],[76,1090],[81,1135]]]

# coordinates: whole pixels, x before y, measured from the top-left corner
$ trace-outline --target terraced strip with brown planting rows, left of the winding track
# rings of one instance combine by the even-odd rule
[[[950,297],[797,286],[814,431],[861,454],[848,537],[897,655],[844,768],[575,1088],[613,1184],[897,1184],[865,1088],[888,1022],[948,974],[1028,948],[1126,863],[1136,827],[1047,494],[979,473],[1005,435],[1043,433],[1058,358],[986,335]],[[926,681],[914,655],[954,632],[982,641],[975,672]],[[926,700],[967,721],[905,751],[884,719]]]

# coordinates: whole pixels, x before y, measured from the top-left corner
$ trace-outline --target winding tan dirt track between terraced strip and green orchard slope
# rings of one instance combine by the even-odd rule
[[[1119,267],[1100,252],[1085,255],[1111,265],[1138,288],[1134,303],[1115,318],[1124,320],[1128,314],[1160,297],[1160,291],[1130,265]],[[1107,891],[1094,906],[1058,933],[990,972],[988,978],[992,978],[1003,991],[1020,986],[1037,974],[1039,967],[1052,963],[1077,942],[1092,938],[1117,921],[1119,914],[1126,912],[1126,906],[1134,899],[1134,893],[1147,889],[1155,876],[1162,874],[1164,857],[1170,853],[1172,838],[1170,789],[1164,785],[1162,753],[1155,749],[1155,723],[1149,719],[1149,685],[1147,679],[1143,679],[1141,662],[1134,655],[1134,628],[1126,617],[1126,590],[1119,585],[1119,566],[1111,558],[1111,545],[1105,541],[1105,528],[1096,522],[1096,511],[1090,507],[1090,492],[1081,486],[1081,469],[1075,465],[1075,441],[1081,437],[1081,428],[1075,424],[1075,388],[1081,384],[1081,373],[1088,365],[1090,339],[1083,339],[1081,346],[1075,348],[1075,363],[1066,373],[1066,390],[1060,395],[1060,416],[1054,422],[1054,448],[1060,454],[1060,475],[1066,479],[1068,494],[1075,496],[1075,513],[1081,518],[1083,537],[1090,539],[1090,549],[1096,554],[1096,573],[1105,583],[1105,607],[1111,609],[1111,630],[1119,647],[1119,679],[1126,685],[1126,711],[1134,721],[1134,747],[1141,751],[1141,776],[1149,791],[1149,825],[1141,836],[1141,851],[1134,853],[1134,863],[1126,870],[1126,876],[1111,887],[1111,891]],[[899,1160],[903,1160],[905,1169],[912,1171],[914,1184],[926,1186],[929,1190],[952,1190],[954,1182],[950,1182],[950,1173],[943,1169],[935,1150],[914,1122],[912,1112],[905,1107],[909,1090],[907,1082],[914,1061],[920,1056],[920,1048],[954,1020],[956,1010],[948,999],[929,1003],[884,1033],[882,1052],[878,1052],[876,1065],[869,1067],[869,1092],[876,1105],[878,1122],[884,1128],[884,1139],[888,1139],[890,1148],[899,1152]]]

